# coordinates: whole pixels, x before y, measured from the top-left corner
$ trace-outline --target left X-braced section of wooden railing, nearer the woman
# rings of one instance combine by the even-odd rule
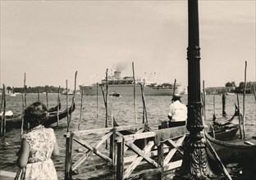
[[[103,159],[107,164],[110,164],[111,167],[115,167],[115,138],[122,136],[123,131],[129,131],[131,129],[139,129],[136,133],[144,132],[146,128],[145,124],[138,125],[130,125],[130,126],[121,126],[114,128],[98,128],[98,129],[90,129],[90,130],[81,130],[68,132],[64,135],[66,137],[66,162],[65,162],[65,179],[71,179],[72,173],[80,168],[80,165],[88,159],[89,155],[94,153],[98,155],[101,159]],[[83,137],[89,139],[89,137],[94,137],[95,134],[98,134],[100,139],[95,145],[92,145],[92,142],[85,141]],[[109,151],[102,152],[100,151],[100,147],[108,140],[110,146]],[[77,142],[80,146],[85,147],[88,151],[86,151],[79,160],[76,160],[74,164],[72,164],[73,155],[73,142]],[[95,142],[94,142],[95,143]]]

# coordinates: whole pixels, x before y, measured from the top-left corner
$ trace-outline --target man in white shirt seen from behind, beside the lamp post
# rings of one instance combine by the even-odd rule
[[[174,94],[172,103],[169,107],[168,118],[170,119],[169,128],[176,126],[185,126],[187,119],[187,107],[181,101],[180,94]]]

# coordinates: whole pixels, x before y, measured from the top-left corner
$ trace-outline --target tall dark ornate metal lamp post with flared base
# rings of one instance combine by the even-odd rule
[[[206,144],[203,141],[202,103],[200,97],[200,47],[198,0],[188,0],[189,47],[188,60],[188,119],[186,128],[190,134],[185,137],[185,151],[177,179],[209,179]]]

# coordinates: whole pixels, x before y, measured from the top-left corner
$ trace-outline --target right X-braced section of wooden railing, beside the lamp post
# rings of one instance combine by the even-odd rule
[[[167,128],[160,131],[171,131],[175,128]],[[156,145],[156,136],[159,131],[137,133],[132,135],[126,135],[117,137],[117,179],[130,178],[131,173],[139,167],[141,164],[148,163],[153,168],[147,168],[151,174],[158,174],[158,179],[162,179],[162,174],[171,169],[176,169],[181,166],[182,160],[175,160],[171,162],[171,158],[174,157],[176,151],[179,151],[183,155],[181,149],[182,143],[185,139],[185,134],[162,139],[158,146]],[[170,134],[171,136],[174,134]],[[149,139],[144,149],[139,149],[134,144],[135,140]],[[127,148],[130,148],[135,155],[126,155]],[[125,158],[126,156],[126,158]],[[157,157],[157,158],[154,158]],[[142,161],[144,160],[144,162]],[[139,174],[145,173],[139,170],[138,173],[134,173],[133,177],[139,177]]]

